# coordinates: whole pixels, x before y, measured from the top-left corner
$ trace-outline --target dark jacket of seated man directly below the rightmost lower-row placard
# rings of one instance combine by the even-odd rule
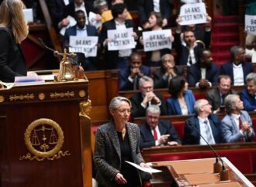
[[[183,70],[180,67],[175,66],[174,71],[177,75],[182,76]],[[156,70],[152,73],[154,80],[154,88],[167,88],[168,87],[168,79],[164,79],[165,70],[164,67]]]

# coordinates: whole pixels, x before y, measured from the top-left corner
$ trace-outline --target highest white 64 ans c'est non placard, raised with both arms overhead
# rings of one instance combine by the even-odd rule
[[[207,20],[206,14],[206,5],[204,3],[182,5],[179,15],[182,18],[182,22],[179,24],[186,26],[205,23]]]

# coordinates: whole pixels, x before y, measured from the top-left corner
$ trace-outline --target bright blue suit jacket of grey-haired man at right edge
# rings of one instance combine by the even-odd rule
[[[244,103],[244,110],[252,111],[256,109],[255,96],[252,96],[250,93],[248,93],[246,88],[241,91],[240,97]]]

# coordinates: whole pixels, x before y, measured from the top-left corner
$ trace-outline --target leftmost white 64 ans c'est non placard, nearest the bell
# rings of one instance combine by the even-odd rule
[[[70,36],[69,52],[85,53],[85,57],[97,56],[98,36]]]

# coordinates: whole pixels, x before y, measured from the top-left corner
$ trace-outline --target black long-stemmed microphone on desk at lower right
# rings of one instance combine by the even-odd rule
[[[200,131],[195,128],[195,125],[192,124],[191,121],[188,121],[189,125],[196,131],[197,134],[199,134],[199,136],[206,141],[206,138],[204,138],[202,136],[202,134],[200,133]],[[211,150],[213,151],[215,157],[216,157],[216,162],[213,165],[213,173],[220,173],[220,181],[227,181],[229,179],[228,177],[228,171],[226,170],[225,165],[223,164],[223,160],[220,158],[220,155],[215,151],[215,149],[213,148],[212,145],[209,145],[208,141],[206,141],[206,144],[209,146],[209,148],[211,148]],[[220,159],[221,165],[218,161],[218,158]]]

